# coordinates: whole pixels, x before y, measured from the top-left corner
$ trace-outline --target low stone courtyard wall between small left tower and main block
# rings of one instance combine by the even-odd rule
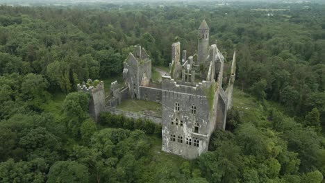
[[[162,119],[158,116],[149,116],[146,114],[137,114],[137,113],[133,113],[133,112],[128,112],[128,111],[124,111],[124,110],[118,110],[115,107],[104,107],[104,112],[110,112],[112,114],[122,114],[123,116],[126,116],[128,118],[133,118],[133,119],[148,119],[150,121],[152,121],[153,123],[156,124],[161,124]]]

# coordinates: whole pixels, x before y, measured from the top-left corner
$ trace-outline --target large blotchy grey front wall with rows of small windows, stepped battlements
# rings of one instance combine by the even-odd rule
[[[164,87],[162,105],[162,150],[188,159],[194,159],[208,150],[210,109],[206,96],[169,91]],[[192,105],[195,107],[194,114],[192,114]],[[178,106],[179,110],[176,108]],[[197,146],[194,146],[194,140],[199,141]]]

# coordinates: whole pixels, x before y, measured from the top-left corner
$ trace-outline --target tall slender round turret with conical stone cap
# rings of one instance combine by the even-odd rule
[[[203,19],[201,26],[199,27],[199,41],[197,46],[197,61],[203,63],[206,61],[209,53],[209,27],[206,24],[206,20]]]

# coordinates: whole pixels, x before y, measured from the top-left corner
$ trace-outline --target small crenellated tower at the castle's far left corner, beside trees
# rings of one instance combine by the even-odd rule
[[[105,89],[103,82],[99,82],[97,86],[86,86],[83,82],[82,85],[77,85],[78,92],[87,92],[90,94],[90,101],[88,104],[89,114],[94,121],[99,120],[99,113],[105,107]]]

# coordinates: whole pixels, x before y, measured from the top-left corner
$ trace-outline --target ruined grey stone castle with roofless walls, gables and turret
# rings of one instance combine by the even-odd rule
[[[96,109],[94,116],[97,116],[98,109],[120,114],[115,106],[125,98],[161,103],[161,120],[157,116],[153,119],[162,124],[162,150],[194,159],[208,150],[213,131],[226,127],[226,113],[231,108],[235,81],[235,53],[226,92],[222,88],[223,73],[224,56],[216,44],[209,47],[209,28],[203,20],[199,27],[197,55],[187,58],[187,51],[182,51],[181,55],[181,43],[173,43],[169,74],[162,77],[160,85],[150,83],[149,55],[141,46],[135,46],[133,53],[124,62],[124,87],[119,88],[117,81],[113,82],[106,107],[92,107]],[[92,96],[94,103],[98,102],[98,106],[102,106],[105,99],[98,101],[98,98],[103,97]],[[94,103],[90,105],[97,106]],[[127,115],[139,116],[129,112]]]

